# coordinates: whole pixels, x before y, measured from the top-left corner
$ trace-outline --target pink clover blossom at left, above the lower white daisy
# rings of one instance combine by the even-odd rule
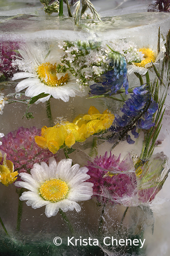
[[[45,162],[49,157],[55,157],[48,149],[40,148],[34,137],[41,136],[41,130],[36,127],[20,127],[2,138],[0,150],[6,153],[6,159],[14,164],[14,171],[30,172],[34,163]],[[17,179],[18,180],[18,179]]]

